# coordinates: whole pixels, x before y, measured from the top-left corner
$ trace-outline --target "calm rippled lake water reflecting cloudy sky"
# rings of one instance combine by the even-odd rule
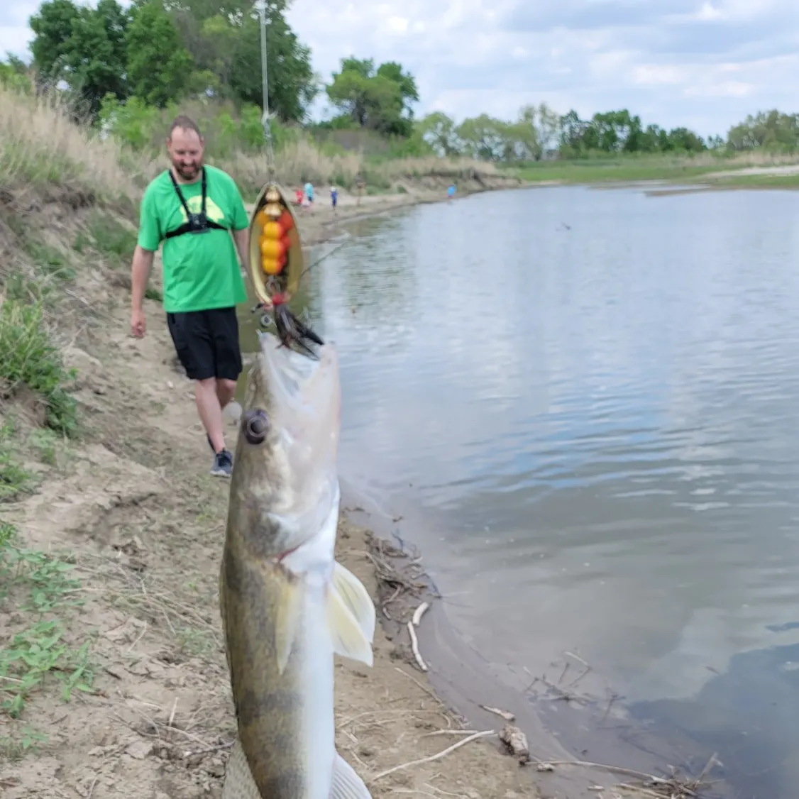
[[[788,192],[486,193],[350,226],[303,298],[341,472],[424,520],[463,638],[579,654],[745,799],[799,781],[797,221]]]

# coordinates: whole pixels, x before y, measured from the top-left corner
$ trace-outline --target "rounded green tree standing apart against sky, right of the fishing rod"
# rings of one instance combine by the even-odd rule
[[[342,58],[340,72],[326,87],[328,98],[352,125],[379,133],[409,137],[412,103],[419,100],[413,76],[400,64],[386,62],[375,70],[372,58]]]

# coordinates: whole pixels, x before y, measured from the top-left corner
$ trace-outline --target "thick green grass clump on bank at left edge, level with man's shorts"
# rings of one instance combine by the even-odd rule
[[[74,435],[78,408],[67,388],[73,379],[50,338],[42,303],[6,297],[0,307],[0,400],[25,385],[41,398],[47,426]]]

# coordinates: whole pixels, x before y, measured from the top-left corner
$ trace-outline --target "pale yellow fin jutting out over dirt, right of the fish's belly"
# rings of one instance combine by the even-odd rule
[[[344,566],[338,563],[336,566],[328,588],[328,625],[333,651],[343,658],[351,658],[366,666],[372,666],[374,622],[370,629],[368,610],[371,608],[374,618],[375,607],[357,578],[344,569]],[[360,594],[359,586],[363,594]],[[364,597],[368,607],[364,603]]]

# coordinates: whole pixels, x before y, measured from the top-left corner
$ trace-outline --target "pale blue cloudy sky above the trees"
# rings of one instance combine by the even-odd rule
[[[0,2],[0,54],[28,55],[37,8]],[[757,110],[799,110],[796,0],[294,0],[288,22],[324,80],[350,54],[402,63],[418,116],[512,119],[546,102],[709,136]]]

